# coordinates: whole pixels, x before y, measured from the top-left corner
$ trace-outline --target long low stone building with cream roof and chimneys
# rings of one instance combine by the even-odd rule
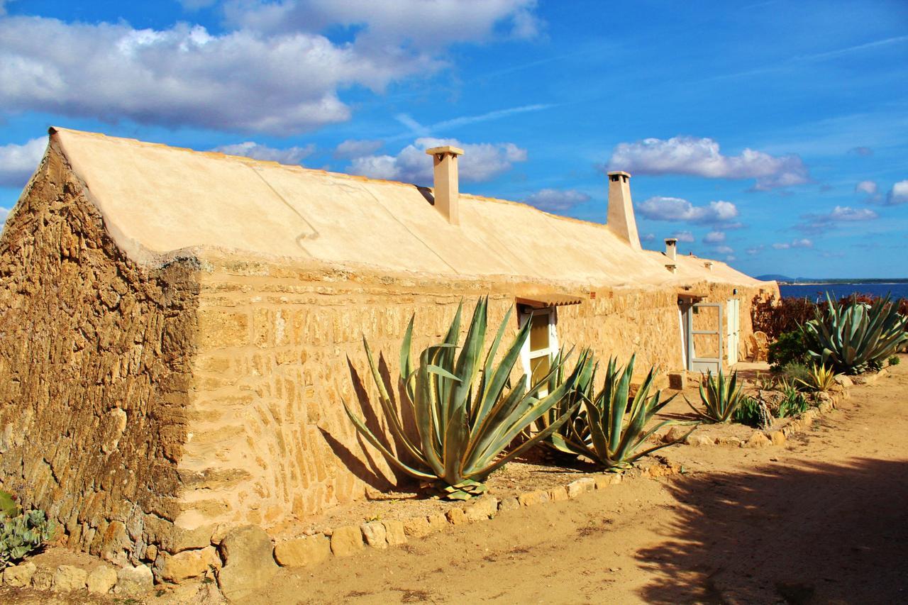
[[[529,372],[569,344],[678,372],[735,362],[776,292],[643,250],[626,173],[587,223],[460,194],[430,151],[434,189],[51,129],[0,239],[5,488],[74,548],[160,559],[396,481],[341,399],[363,336],[396,375],[414,312],[414,348],[488,294],[534,322]]]

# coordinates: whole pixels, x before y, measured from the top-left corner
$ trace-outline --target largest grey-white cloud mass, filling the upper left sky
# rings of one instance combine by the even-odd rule
[[[487,40],[532,17],[533,7],[532,0],[244,1],[228,10],[236,28],[213,34],[184,23],[136,29],[13,16],[0,20],[0,107],[295,134],[350,119],[339,91],[380,93],[431,74],[448,65],[445,46]],[[338,25],[354,39],[324,35]]]

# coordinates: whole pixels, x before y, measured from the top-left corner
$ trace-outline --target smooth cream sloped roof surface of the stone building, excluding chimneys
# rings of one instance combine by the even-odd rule
[[[115,241],[140,263],[213,247],[457,276],[760,283],[725,263],[708,271],[703,259],[679,257],[677,273],[668,273],[664,256],[632,250],[604,224],[523,203],[461,193],[454,226],[412,184],[63,128],[51,137]]]

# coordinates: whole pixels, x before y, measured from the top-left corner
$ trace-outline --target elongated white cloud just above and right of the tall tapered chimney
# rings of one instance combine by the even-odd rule
[[[644,139],[615,147],[608,166],[637,174],[691,174],[706,178],[756,179],[755,190],[810,182],[807,166],[796,154],[773,156],[745,149],[723,155],[713,139],[676,136]]]

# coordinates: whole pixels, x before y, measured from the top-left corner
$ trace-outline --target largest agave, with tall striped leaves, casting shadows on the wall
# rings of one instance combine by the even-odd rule
[[[482,481],[490,472],[546,439],[576,410],[576,406],[568,408],[546,430],[508,450],[520,433],[574,388],[577,371],[545,396],[539,393],[548,383],[550,375],[559,371],[560,361],[552,363],[548,374],[537,385],[528,386],[524,375],[511,386],[509,376],[518,361],[521,347],[527,341],[529,322],[518,331],[496,365],[496,354],[511,311],[501,322],[495,340],[483,357],[487,307],[488,299],[477,302],[458,354],[461,304],[444,342],[419,353],[419,362],[415,366],[410,352],[413,334],[413,319],[410,319],[400,347],[399,391],[404,400],[401,406],[408,407],[416,421],[418,435],[415,437],[404,430],[400,411],[381,380],[369,343],[363,339],[372,377],[379,390],[382,413],[390,432],[400,443],[402,453],[414,462],[405,461],[404,456],[393,453],[360,418],[350,412],[344,402],[344,410],[357,431],[391,464],[412,477],[439,487],[452,499],[467,499],[485,491]]]

